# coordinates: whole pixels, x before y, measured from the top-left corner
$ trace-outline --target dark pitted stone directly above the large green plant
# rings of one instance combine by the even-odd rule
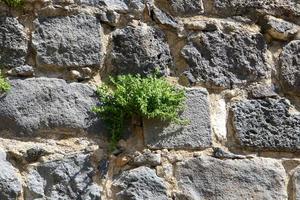
[[[145,24],[127,26],[113,33],[112,42],[109,60],[114,73],[147,75],[157,68],[166,75],[173,65],[165,35],[159,29]]]

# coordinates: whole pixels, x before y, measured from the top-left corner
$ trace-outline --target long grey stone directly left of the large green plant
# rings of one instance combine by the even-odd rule
[[[51,78],[10,83],[12,89],[0,97],[0,131],[19,135],[100,131],[100,122],[91,111],[97,104],[91,86]]]

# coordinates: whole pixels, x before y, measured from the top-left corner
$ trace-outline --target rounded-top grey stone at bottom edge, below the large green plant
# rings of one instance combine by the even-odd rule
[[[148,167],[124,171],[113,181],[112,189],[116,200],[168,199],[163,179]]]

